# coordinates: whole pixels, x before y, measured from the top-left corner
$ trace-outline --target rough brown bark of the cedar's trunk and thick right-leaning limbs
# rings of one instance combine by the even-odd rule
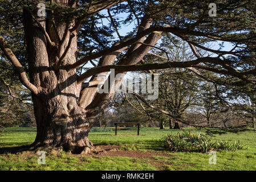
[[[106,7],[122,1],[114,1],[112,4],[107,3]],[[70,3],[74,1],[54,0],[51,2],[62,3],[63,6],[75,6],[75,4],[71,5]],[[95,5],[95,8],[97,10],[95,9],[94,12],[102,7]],[[92,9],[93,7],[90,8],[90,10]],[[105,73],[95,73],[91,82],[81,91],[82,85],[86,84],[83,83],[84,80],[79,80],[76,69],[63,69],[67,65],[79,65],[79,61],[76,59],[77,40],[75,30],[76,27],[78,28],[77,23],[80,20],[67,22],[60,20],[59,17],[54,17],[54,21],[52,21],[50,19],[46,20],[44,17],[39,18],[36,13],[36,10],[34,12],[28,9],[23,10],[30,77],[27,82],[33,88],[38,89],[36,92],[32,92],[37,125],[36,138],[31,146],[25,146],[25,150],[60,147],[61,150],[71,151],[75,154],[87,154],[87,152],[94,149],[94,146],[88,140],[92,123],[99,120],[115,95],[114,93],[97,93],[96,84],[92,84],[92,82],[95,82],[99,75],[103,75],[103,78],[105,78],[109,69]],[[145,16],[137,34],[149,28],[151,21]],[[151,33],[147,38],[145,38],[145,35],[138,40],[152,46],[161,38],[161,32]],[[113,47],[118,44],[113,45]],[[5,45],[1,43],[1,48],[2,46]],[[103,55],[98,66],[113,64],[119,53],[126,48],[121,47]],[[127,54],[120,60],[119,65],[139,63],[151,48],[151,46],[144,44],[132,44]],[[21,67],[21,65],[18,65],[18,67]],[[21,73],[23,74],[22,77],[26,79],[26,73],[23,71]],[[125,75],[126,71],[116,72],[115,76],[118,73]],[[120,77],[119,80],[110,82],[111,79],[107,78],[105,82],[108,83],[109,90],[116,90],[120,87],[122,80],[123,77]],[[30,89],[29,86],[27,88]],[[30,90],[32,91],[32,89]],[[17,149],[22,150],[22,147]]]

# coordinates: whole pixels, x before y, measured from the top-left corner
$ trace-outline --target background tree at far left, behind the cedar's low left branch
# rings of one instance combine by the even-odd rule
[[[18,126],[23,115],[32,111],[31,96],[19,82],[12,65],[5,59],[0,61],[0,127]]]

